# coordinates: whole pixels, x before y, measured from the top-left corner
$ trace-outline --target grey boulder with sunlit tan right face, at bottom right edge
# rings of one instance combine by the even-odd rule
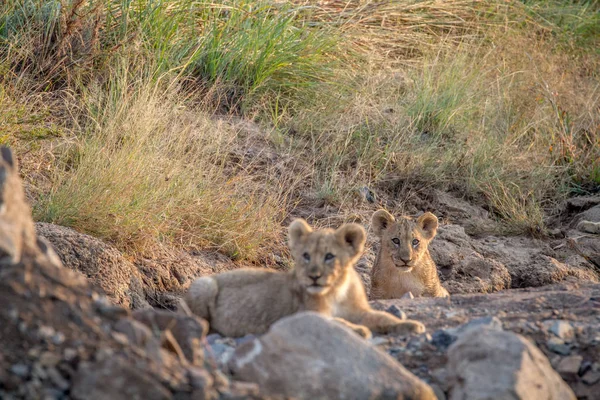
[[[472,329],[448,350],[450,399],[575,399],[544,354],[520,335]]]

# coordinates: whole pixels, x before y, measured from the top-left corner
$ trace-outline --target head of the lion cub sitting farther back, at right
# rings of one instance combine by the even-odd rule
[[[438,228],[437,217],[430,212],[414,221],[408,217],[396,220],[389,212],[379,210],[371,223],[381,240],[380,254],[389,256],[400,271],[406,272],[419,264]]]

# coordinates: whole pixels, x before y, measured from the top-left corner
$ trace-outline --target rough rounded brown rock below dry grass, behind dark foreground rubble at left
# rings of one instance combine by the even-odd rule
[[[117,249],[63,226],[38,222],[36,229],[52,244],[66,267],[83,273],[116,304],[132,308],[147,306],[141,275]]]

